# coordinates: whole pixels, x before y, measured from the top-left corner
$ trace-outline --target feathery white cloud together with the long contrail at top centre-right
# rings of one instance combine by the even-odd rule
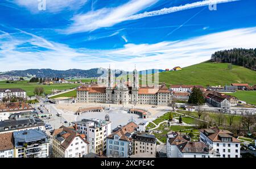
[[[156,2],[158,2],[158,0],[132,0],[115,8],[102,8],[96,11],[86,12],[85,14],[75,15],[72,18],[73,23],[71,26],[69,26],[67,29],[59,31],[67,34],[94,31],[98,28],[112,27],[115,24],[124,22],[126,20],[142,19],[151,16],[158,16],[170,14],[172,12],[193,9],[201,6],[233,1],[240,0],[205,0],[137,14],[139,11],[154,5]]]

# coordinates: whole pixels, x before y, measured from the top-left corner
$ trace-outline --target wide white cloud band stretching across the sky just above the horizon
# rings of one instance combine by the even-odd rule
[[[256,27],[233,29],[180,41],[126,44],[113,50],[72,49],[27,33],[1,32],[0,71],[31,68],[90,69],[108,67],[138,70],[189,66],[210,59],[217,50],[255,48]],[[30,44],[26,46],[26,44]],[[32,47],[31,47],[32,45]],[[42,50],[45,48],[47,50]]]

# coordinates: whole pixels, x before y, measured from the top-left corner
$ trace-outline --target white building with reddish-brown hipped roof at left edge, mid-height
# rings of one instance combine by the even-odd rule
[[[0,121],[7,120],[13,113],[33,111],[33,108],[24,102],[0,103]]]

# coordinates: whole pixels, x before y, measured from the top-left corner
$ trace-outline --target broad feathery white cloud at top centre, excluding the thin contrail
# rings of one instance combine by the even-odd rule
[[[64,33],[77,33],[93,31],[102,27],[112,27],[114,24],[125,21],[127,17],[146,9],[158,0],[132,0],[124,5],[114,8],[102,8],[89,11],[86,14],[75,15],[71,27],[65,29]]]

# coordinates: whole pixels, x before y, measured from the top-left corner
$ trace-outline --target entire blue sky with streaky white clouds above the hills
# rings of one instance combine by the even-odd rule
[[[254,0],[44,1],[0,2],[0,71],[170,69],[256,48]]]

